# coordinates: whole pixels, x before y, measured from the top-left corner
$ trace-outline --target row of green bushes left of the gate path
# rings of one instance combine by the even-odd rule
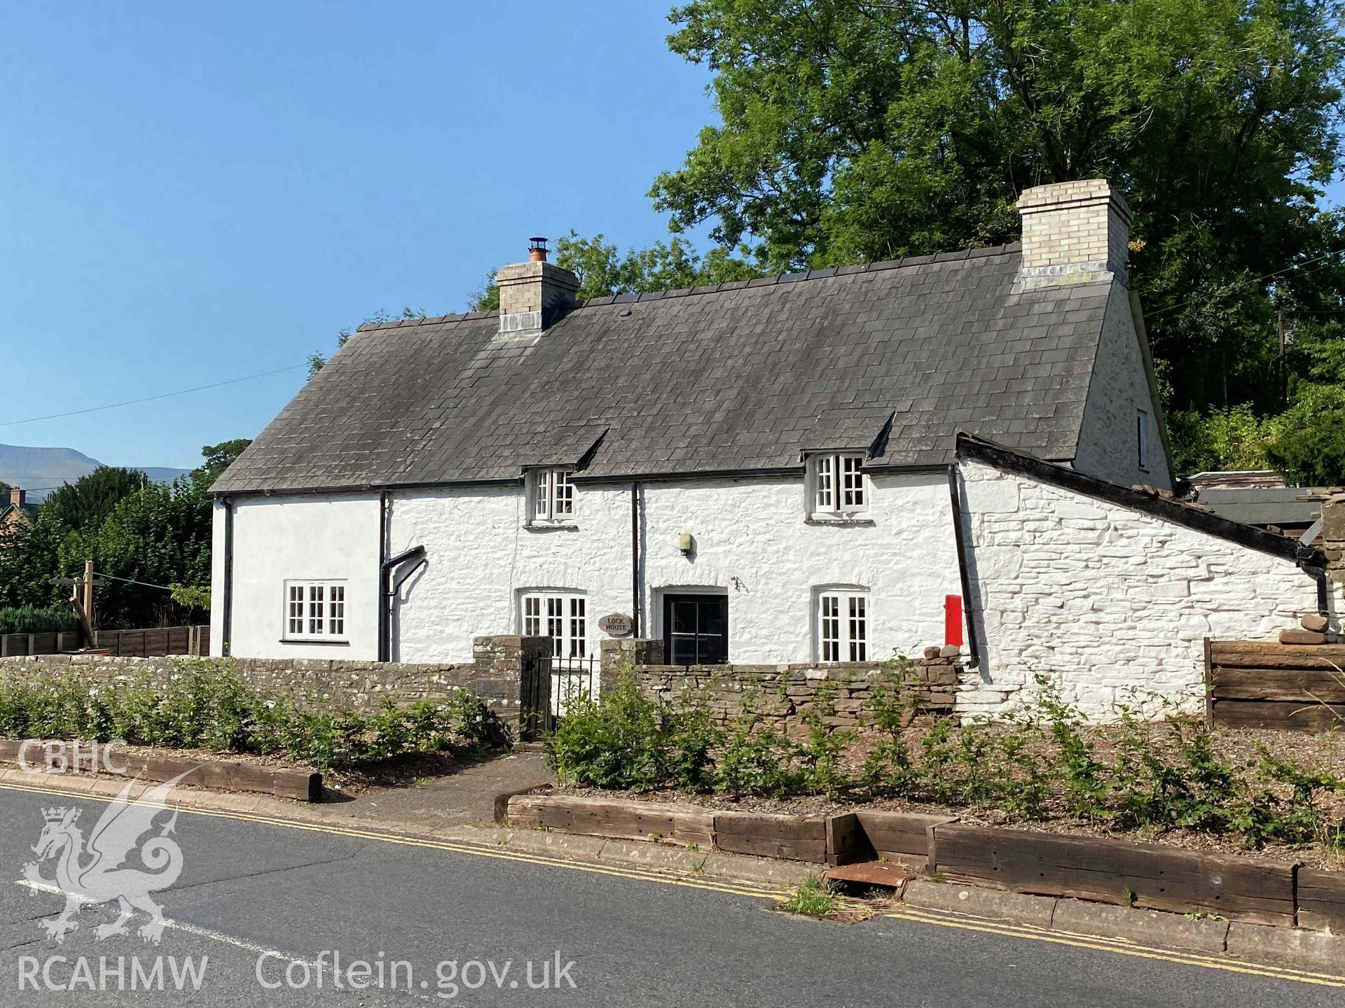
[[[249,687],[227,659],[175,664],[178,675],[165,688],[148,679],[0,679],[0,735],[120,738],[141,746],[284,753],[324,769],[455,746],[508,743],[504,726],[464,689],[409,708],[387,702],[373,714],[323,712]]]

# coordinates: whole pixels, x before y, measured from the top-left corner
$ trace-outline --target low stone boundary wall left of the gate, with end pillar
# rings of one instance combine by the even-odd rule
[[[410,664],[340,659],[130,659],[106,655],[39,655],[0,659],[0,677],[79,675],[105,681],[140,677],[164,687],[196,661],[227,661],[257,689],[289,694],[316,710],[354,707],[374,711],[385,700],[398,706],[469,689],[504,722],[518,723],[525,659],[550,655],[550,640],[494,636],[472,641],[473,660]]]

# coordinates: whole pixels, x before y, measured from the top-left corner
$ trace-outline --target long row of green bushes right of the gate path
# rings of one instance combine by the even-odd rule
[[[857,732],[834,727],[826,684],[804,708],[807,732],[796,739],[764,712],[757,689],[721,728],[703,695],[656,700],[629,671],[600,699],[572,702],[550,743],[551,765],[565,781],[613,790],[835,798],[863,788],[872,797],[993,809],[1018,820],[1233,833],[1252,848],[1342,845],[1345,825],[1333,818],[1329,797],[1345,794],[1345,778],[1264,751],[1259,762],[1235,765],[1219,754],[1202,720],[1171,707],[1163,720],[1142,719],[1135,704],[1122,707],[1110,747],[1099,750],[1077,707],[1038,676],[1032,703],[1007,722],[936,719],[917,727],[911,671],[896,660],[870,689],[877,731],[857,777],[847,762]],[[50,716],[61,711],[54,703]]]

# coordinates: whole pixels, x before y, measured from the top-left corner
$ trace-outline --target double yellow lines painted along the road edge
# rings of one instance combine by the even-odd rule
[[[94,794],[81,794],[56,788],[40,788],[12,782],[0,782],[0,790],[31,792],[35,794],[59,794],[65,797],[110,802],[113,798]],[[252,814],[246,812],[223,812],[215,809],[182,809],[182,812],[195,816],[213,816],[215,818],[234,818],[243,823],[265,823],[266,825],[282,827],[285,829],[305,829],[312,833],[328,833],[335,836],[348,836],[358,840],[373,840],[383,844],[397,844],[401,847],[420,847],[432,851],[451,851],[453,853],[468,853],[476,857],[495,857],[506,862],[523,862],[525,864],[541,864],[553,868],[568,868],[570,871],[584,871],[593,875],[611,875],[638,882],[652,882],[660,886],[685,886],[687,888],[709,890],[713,892],[728,892],[737,896],[753,896],[757,899],[779,900],[787,895],[783,890],[763,888],[748,883],[717,882],[710,879],[697,879],[687,876],[674,876],[655,871],[642,871],[640,868],[613,868],[608,866],[590,864],[585,862],[572,862],[564,857],[547,857],[545,855],[526,853],[522,851],[503,851],[484,844],[460,843],[453,840],[434,840],[430,837],[404,836],[399,833],[383,833],[370,829],[354,829],[327,823],[304,823],[292,818],[277,818],[273,816]],[[1204,956],[1200,953],[1173,952],[1169,949],[1154,949],[1145,945],[1124,941],[1123,938],[1099,938],[1095,935],[1072,934],[1068,931],[1049,931],[1030,925],[1014,925],[998,921],[985,921],[979,918],[962,917],[952,913],[939,913],[920,910],[916,907],[900,907],[890,910],[884,917],[894,921],[911,923],[933,925],[936,927],[958,927],[966,931],[982,931],[985,934],[999,934],[1009,938],[1026,938],[1029,941],[1049,942],[1052,945],[1067,945],[1076,949],[1091,949],[1095,952],[1111,952],[1118,956],[1132,956],[1137,958],[1157,960],[1159,962],[1174,962],[1184,966],[1198,966],[1202,969],[1220,969],[1228,973],[1243,973],[1248,976],[1268,977],[1272,980],[1291,980],[1299,984],[1315,984],[1318,986],[1345,988],[1345,977],[1329,973],[1314,973],[1310,970],[1290,969],[1280,966],[1263,966],[1237,960]]]

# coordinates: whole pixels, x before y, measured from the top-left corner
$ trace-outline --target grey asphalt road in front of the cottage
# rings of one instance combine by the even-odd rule
[[[86,831],[106,808],[0,788],[0,1005],[1345,1004],[1342,989],[1294,980],[892,918],[831,925],[740,892],[190,812],[176,824],[182,875],[157,895],[175,922],[161,943],[134,930],[100,941],[97,925],[116,913],[89,906],[56,945],[42,921],[63,899],[19,880],[43,809],[69,805]],[[334,952],[344,989],[323,957]],[[188,956],[206,965],[199,991],[188,977],[180,992],[172,962],[180,970]],[[165,989],[129,989],[153,981],[156,957]],[[390,964],[409,965],[395,989],[352,991],[364,976],[347,972],[356,960],[370,982],[379,962],[385,982]],[[551,988],[530,989],[543,962]]]

